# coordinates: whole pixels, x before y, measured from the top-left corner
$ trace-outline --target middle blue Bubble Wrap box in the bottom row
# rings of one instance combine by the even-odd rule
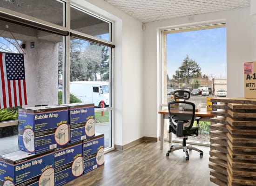
[[[63,184],[83,174],[82,142],[54,149],[55,186]]]

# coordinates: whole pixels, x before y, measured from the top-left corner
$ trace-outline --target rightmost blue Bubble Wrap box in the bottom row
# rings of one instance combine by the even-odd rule
[[[84,174],[104,164],[104,134],[83,140]]]

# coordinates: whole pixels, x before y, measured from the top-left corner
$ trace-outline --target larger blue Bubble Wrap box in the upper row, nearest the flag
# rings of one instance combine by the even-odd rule
[[[19,149],[42,153],[68,144],[67,106],[38,106],[19,109]]]

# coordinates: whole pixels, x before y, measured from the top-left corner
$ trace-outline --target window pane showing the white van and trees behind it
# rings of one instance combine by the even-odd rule
[[[70,101],[107,107],[109,97],[109,52],[111,48],[86,40],[70,41]]]

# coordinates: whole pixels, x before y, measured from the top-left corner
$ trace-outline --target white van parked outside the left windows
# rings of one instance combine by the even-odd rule
[[[94,106],[109,105],[108,82],[106,81],[72,81],[69,85],[70,93],[83,103],[94,103]]]

